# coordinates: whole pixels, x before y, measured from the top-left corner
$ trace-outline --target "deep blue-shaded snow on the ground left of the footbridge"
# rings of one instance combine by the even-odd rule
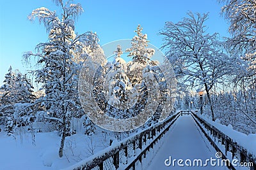
[[[31,134],[14,137],[0,132],[0,170],[63,169],[99,152],[109,145],[109,135],[97,131],[92,137],[74,134],[66,138],[65,152],[58,156],[60,136],[58,132],[36,133],[35,145]]]

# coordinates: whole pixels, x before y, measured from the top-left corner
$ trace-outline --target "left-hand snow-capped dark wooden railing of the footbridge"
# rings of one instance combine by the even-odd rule
[[[70,169],[135,169],[138,163],[147,159],[150,149],[156,147],[157,143],[163,138],[164,134],[170,129],[171,125],[177,120],[182,111],[179,111],[166,118],[161,123],[125,138],[122,141],[112,143],[99,153],[88,157],[81,162],[77,162]],[[186,114],[187,111],[182,114]]]

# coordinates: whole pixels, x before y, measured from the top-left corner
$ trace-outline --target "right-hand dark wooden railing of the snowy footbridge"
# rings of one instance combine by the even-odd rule
[[[200,127],[201,131],[204,133],[205,137],[210,141],[211,145],[214,146],[217,152],[222,153],[222,159],[227,160],[227,152],[231,152],[232,159],[236,157],[239,159],[239,162],[250,162],[250,169],[256,169],[256,158],[253,157],[252,153],[248,152],[243,146],[238,145],[233,141],[232,138],[228,137],[219,129],[209,124],[209,122],[204,120],[204,118],[196,115],[196,113],[192,112],[192,116],[198,127]],[[222,151],[217,143],[221,143],[221,145],[225,148],[225,151]],[[232,164],[229,165],[229,169],[236,169],[234,166],[232,166]]]

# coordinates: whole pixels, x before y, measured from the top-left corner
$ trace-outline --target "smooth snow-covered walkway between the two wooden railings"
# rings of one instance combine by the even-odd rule
[[[211,157],[212,159],[216,159],[216,151],[208,141],[205,141],[205,138],[202,137],[203,134],[198,130],[198,127],[196,127],[195,120],[193,120],[191,115],[180,116],[166,135],[166,141],[164,141],[163,146],[159,148],[154,159],[150,162],[150,166],[147,168],[148,170],[227,169],[227,167],[211,166],[211,162],[207,162],[208,166],[206,167],[193,167],[194,159],[202,159],[202,164],[205,164],[205,160],[211,159]],[[184,167],[178,166],[177,161],[175,162],[174,167],[173,164],[165,166],[164,160],[169,159],[170,156],[172,157],[172,161],[173,159],[183,159],[184,162],[182,162],[182,164],[184,164]],[[186,166],[186,159],[191,160],[192,166]],[[218,165],[218,161],[216,160],[215,162]],[[220,160],[219,162],[221,164]],[[168,164],[169,161],[166,163]]]

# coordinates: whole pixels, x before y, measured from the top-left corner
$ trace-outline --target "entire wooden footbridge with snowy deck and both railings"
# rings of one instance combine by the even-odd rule
[[[232,159],[236,159],[236,165],[250,164],[234,166]],[[198,113],[182,110],[67,169],[174,169],[170,166],[253,170],[256,158]]]

